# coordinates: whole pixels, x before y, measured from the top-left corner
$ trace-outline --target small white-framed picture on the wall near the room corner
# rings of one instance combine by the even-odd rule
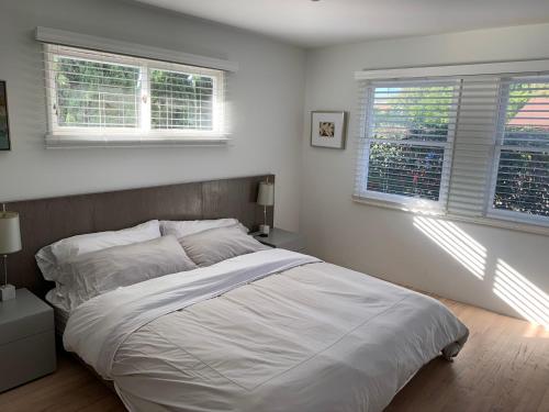
[[[311,112],[311,146],[344,149],[347,141],[347,112]]]

